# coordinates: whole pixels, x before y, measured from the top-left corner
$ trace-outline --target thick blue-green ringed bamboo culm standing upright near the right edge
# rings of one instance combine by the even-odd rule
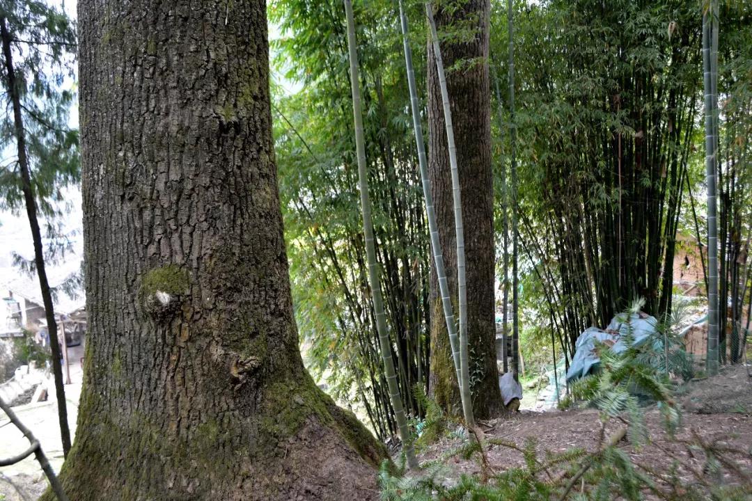
[[[717,0],[711,0],[708,8],[703,8],[702,14],[702,67],[703,84],[705,87],[705,174],[708,183],[708,352],[705,367],[708,375],[718,373],[718,228],[716,208],[716,178],[717,165],[715,137],[717,101],[714,95],[717,74],[712,71],[712,58],[715,50],[713,41],[717,41],[717,34],[713,33],[717,23],[713,18],[717,15]],[[717,57],[717,54],[716,54]]]

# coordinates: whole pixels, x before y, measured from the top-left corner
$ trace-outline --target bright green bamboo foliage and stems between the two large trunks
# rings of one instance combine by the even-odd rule
[[[429,246],[396,2],[356,2],[368,186],[400,392],[427,385]],[[293,301],[305,363],[386,439],[395,430],[374,329],[360,219],[341,1],[270,2],[275,152]],[[408,3],[417,86],[425,89],[422,5]],[[299,86],[292,93],[288,82]],[[426,386],[427,388],[427,386]]]

